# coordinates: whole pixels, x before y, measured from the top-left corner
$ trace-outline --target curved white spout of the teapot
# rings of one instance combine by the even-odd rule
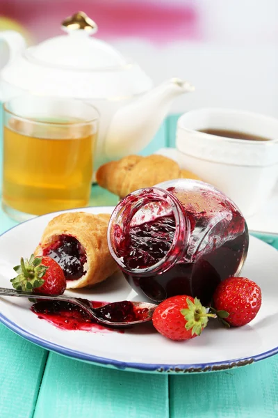
[[[177,95],[194,91],[181,79],[170,79],[117,110],[105,139],[109,159],[140,152],[150,141],[167,115]]]

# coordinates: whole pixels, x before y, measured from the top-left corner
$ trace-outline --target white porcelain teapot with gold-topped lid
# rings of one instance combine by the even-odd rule
[[[0,32],[9,49],[0,72],[0,99],[30,92],[90,102],[100,115],[95,169],[100,164],[138,153],[152,140],[172,99],[193,86],[171,79],[152,87],[138,64],[90,35],[97,24],[83,12],[62,23],[67,34],[26,47],[15,31]]]

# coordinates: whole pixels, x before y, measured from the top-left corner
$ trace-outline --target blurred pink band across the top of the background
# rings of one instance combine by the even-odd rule
[[[3,15],[26,26],[36,40],[58,35],[67,16],[84,10],[99,25],[101,38],[139,37],[155,42],[202,37],[193,3],[172,1],[1,0]]]

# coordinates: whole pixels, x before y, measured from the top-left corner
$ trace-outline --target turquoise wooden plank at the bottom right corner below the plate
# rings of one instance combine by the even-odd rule
[[[278,356],[229,371],[170,376],[170,417],[277,418]]]

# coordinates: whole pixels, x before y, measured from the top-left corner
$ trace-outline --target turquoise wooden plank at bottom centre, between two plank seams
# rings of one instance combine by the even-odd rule
[[[168,418],[167,376],[92,366],[51,353],[34,418]]]

